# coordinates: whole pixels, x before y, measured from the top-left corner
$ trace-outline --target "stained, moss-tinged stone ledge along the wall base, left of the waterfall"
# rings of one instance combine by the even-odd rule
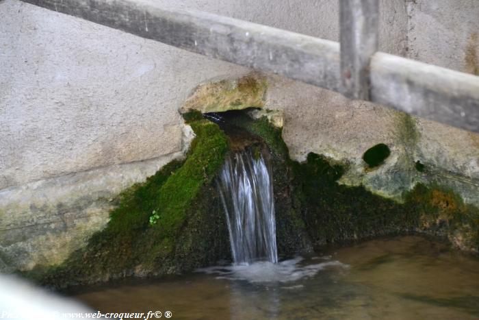
[[[0,190],[0,271],[58,264],[108,221],[114,197],[183,152]]]

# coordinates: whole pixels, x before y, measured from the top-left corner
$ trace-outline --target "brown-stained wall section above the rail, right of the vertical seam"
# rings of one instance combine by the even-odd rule
[[[415,0],[406,1],[406,6],[409,58],[476,73],[479,67],[477,1]]]

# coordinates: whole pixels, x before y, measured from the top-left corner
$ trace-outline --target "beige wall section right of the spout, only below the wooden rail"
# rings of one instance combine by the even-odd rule
[[[283,111],[292,159],[302,162],[314,152],[348,163],[340,183],[362,184],[397,201],[418,182],[437,182],[479,205],[479,135],[276,76],[268,83],[264,108]],[[369,169],[363,153],[379,143],[391,156]],[[426,167],[422,173],[415,169],[418,160]]]

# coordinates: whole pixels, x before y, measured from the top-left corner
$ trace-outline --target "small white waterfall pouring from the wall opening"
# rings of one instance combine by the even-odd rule
[[[278,262],[271,170],[261,153],[241,151],[226,158],[218,190],[235,264]]]

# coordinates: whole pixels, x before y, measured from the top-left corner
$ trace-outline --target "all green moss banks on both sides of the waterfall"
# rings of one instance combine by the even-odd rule
[[[60,266],[38,267],[29,276],[64,286],[192,270],[227,254],[226,222],[220,220],[224,212],[212,184],[229,151],[227,137],[198,112],[189,119],[196,138],[185,161],[170,162],[143,184],[125,190],[107,227],[86,248]],[[418,184],[399,204],[363,186],[338,184],[344,164],[315,153],[303,163],[290,160],[281,129],[266,117],[254,121],[243,112],[226,112],[224,119],[261,137],[271,153],[280,254],[294,254],[309,241],[320,246],[418,231],[479,251],[479,210],[451,190]],[[256,140],[256,156],[263,146]],[[153,212],[156,223],[150,225]],[[365,267],[385,262],[381,258]]]

